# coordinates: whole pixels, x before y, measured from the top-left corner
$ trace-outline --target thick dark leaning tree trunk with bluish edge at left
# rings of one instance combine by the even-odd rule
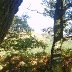
[[[0,44],[8,32],[21,2],[22,0],[0,0]]]

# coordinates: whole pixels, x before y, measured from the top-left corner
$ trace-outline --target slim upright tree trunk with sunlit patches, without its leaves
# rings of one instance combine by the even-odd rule
[[[51,49],[51,71],[62,71],[61,47],[63,42],[63,0],[57,0],[54,16],[54,41]]]

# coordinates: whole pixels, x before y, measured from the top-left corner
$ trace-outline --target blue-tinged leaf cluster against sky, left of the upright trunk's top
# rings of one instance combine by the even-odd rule
[[[44,5],[44,16],[54,17],[56,0],[42,0]]]

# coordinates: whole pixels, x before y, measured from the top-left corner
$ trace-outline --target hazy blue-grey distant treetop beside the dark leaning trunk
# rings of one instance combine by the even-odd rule
[[[11,25],[11,29],[16,32],[21,32],[25,30],[26,32],[30,32],[32,29],[27,23],[28,15],[23,15],[22,17],[15,16],[13,20],[13,24]]]

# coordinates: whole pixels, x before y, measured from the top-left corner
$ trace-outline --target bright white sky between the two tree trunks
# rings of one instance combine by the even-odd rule
[[[37,10],[40,13],[43,13],[44,8],[41,3],[42,0],[23,0],[22,4],[19,7],[19,11],[16,14],[18,16],[28,14],[30,16],[30,18],[28,19],[28,24],[37,33],[41,33],[41,30],[43,28],[51,27],[54,24],[53,19],[49,16],[45,17],[42,14],[37,13],[36,11],[31,11]]]

